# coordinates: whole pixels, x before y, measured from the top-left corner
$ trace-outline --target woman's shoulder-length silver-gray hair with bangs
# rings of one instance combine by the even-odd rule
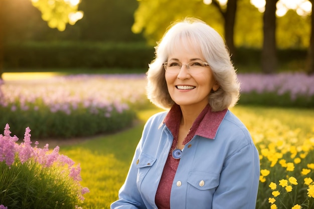
[[[219,84],[209,95],[212,111],[234,106],[239,100],[240,84],[223,38],[208,24],[195,18],[175,22],[155,47],[155,59],[149,64],[147,98],[158,107],[169,109],[174,101],[168,92],[164,62],[176,46],[195,46],[204,56]]]

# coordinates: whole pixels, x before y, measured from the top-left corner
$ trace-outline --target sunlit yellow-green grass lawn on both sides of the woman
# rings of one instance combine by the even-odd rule
[[[85,195],[84,208],[109,208],[117,199],[144,122],[160,111],[153,107],[139,110],[140,122],[130,129],[61,146],[62,154],[81,164],[82,185],[90,189]],[[259,132],[298,130],[297,139],[301,141],[314,132],[314,111],[311,109],[236,106],[231,111],[247,125],[253,139]]]

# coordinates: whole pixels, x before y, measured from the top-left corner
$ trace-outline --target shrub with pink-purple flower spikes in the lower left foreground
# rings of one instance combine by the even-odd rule
[[[88,188],[81,186],[80,165],[59,147],[49,152],[31,146],[30,129],[24,142],[11,136],[9,124],[0,135],[0,202],[8,208],[80,208]]]

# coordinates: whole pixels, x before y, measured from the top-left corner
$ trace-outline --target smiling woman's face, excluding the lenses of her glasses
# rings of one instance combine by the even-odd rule
[[[171,98],[180,106],[204,108],[208,104],[208,97],[213,89],[216,91],[219,85],[213,77],[209,66],[201,67],[198,74],[190,73],[187,65],[192,61],[205,62],[203,55],[194,47],[176,47],[169,55],[168,62],[176,61],[182,64],[178,73],[165,73],[167,87]],[[191,70],[192,72],[192,70]]]

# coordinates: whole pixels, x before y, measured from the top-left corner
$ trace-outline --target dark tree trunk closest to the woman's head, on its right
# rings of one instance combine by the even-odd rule
[[[232,55],[232,59],[236,58],[235,46],[234,46],[234,25],[235,25],[235,17],[237,11],[237,0],[228,0],[227,10],[224,14],[225,19],[225,39],[226,44],[229,48],[230,54]]]

